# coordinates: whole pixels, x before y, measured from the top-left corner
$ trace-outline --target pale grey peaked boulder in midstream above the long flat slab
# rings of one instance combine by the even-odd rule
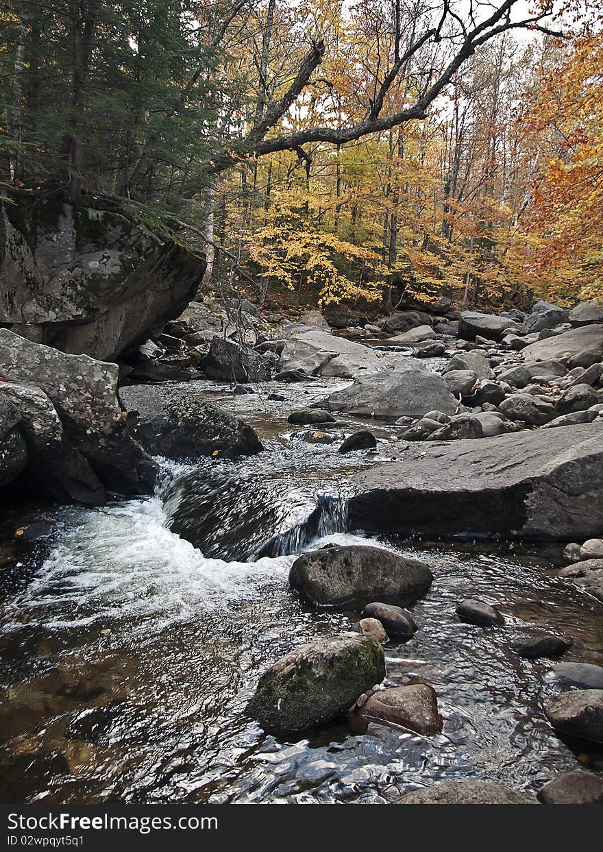
[[[330,394],[317,407],[330,412],[347,412],[359,417],[422,417],[437,410],[454,414],[458,402],[436,373],[414,366],[404,359],[393,369],[370,373],[349,387]]]

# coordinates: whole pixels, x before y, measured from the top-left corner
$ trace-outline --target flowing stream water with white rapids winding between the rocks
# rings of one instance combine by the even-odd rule
[[[349,476],[389,458],[399,429],[373,423],[375,451],[340,455],[359,423],[338,423],[328,430],[334,443],[313,445],[286,422],[291,408],[344,384],[271,384],[249,395],[189,385],[244,417],[266,451],[164,462],[152,498],[56,510],[49,543],[5,561],[2,801],[387,803],[435,780],[537,789],[562,770],[600,771],[600,752],[566,745],[543,716],[543,698],[558,690],[552,663],[509,646],[547,630],[573,638],[566,659],[601,663],[603,607],[554,576],[560,548],[347,532]],[[267,400],[277,390],[286,399]],[[246,717],[274,659],[359,619],[312,612],[287,588],[296,552],[330,541],[377,544],[432,567],[433,588],[412,607],[420,630],[385,648],[387,682],[431,683],[443,734],[350,719],[282,741]],[[459,622],[455,605],[467,596],[496,602],[504,627]]]

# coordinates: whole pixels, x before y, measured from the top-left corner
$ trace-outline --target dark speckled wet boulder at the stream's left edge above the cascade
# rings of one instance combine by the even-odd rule
[[[261,452],[256,432],[180,386],[135,384],[119,389],[127,412],[136,412],[135,435],[147,452],[166,458],[238,458]]]

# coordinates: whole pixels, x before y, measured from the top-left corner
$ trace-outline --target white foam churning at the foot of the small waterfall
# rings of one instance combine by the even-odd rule
[[[36,577],[9,605],[5,626],[22,626],[11,615],[26,609],[29,624],[48,628],[150,615],[161,628],[199,610],[252,599],[265,584],[284,588],[294,559],[207,559],[165,526],[158,497],[83,509],[71,516]]]

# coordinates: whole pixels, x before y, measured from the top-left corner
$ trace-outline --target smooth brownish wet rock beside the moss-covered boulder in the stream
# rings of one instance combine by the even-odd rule
[[[393,722],[417,734],[440,734],[444,720],[438,712],[438,696],[427,683],[379,690],[362,707],[369,721]]]

